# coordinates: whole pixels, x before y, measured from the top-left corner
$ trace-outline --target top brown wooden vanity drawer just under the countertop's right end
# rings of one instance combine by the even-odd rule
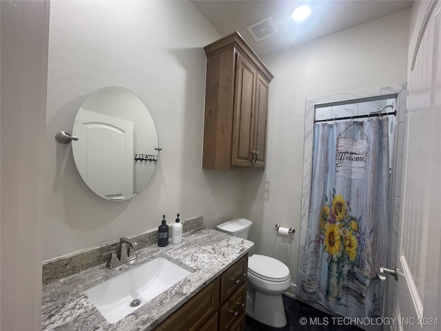
[[[234,263],[220,276],[220,303],[222,304],[235,290],[247,283],[248,254]]]

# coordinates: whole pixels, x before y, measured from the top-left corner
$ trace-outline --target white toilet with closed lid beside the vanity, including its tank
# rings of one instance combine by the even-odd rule
[[[219,224],[219,231],[248,238],[252,221],[237,218]],[[247,315],[260,323],[283,328],[287,324],[282,293],[291,285],[288,267],[272,257],[254,254],[248,259]]]

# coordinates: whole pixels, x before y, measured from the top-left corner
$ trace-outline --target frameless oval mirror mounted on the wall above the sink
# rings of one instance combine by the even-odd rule
[[[72,152],[83,181],[100,197],[123,201],[152,179],[158,133],[147,106],[115,86],[90,94],[74,121]]]

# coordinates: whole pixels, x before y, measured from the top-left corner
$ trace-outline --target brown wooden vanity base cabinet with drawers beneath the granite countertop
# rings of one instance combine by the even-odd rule
[[[248,254],[159,324],[154,331],[245,331]]]

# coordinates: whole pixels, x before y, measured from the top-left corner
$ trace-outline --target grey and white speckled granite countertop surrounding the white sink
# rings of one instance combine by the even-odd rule
[[[252,241],[217,230],[200,228],[183,234],[179,245],[150,245],[137,252],[133,264],[107,269],[105,263],[43,286],[41,330],[153,330],[172,312],[214,281],[243,257]],[[192,271],[162,294],[114,324],[108,323],[84,290],[136,268],[156,257],[165,257]]]

